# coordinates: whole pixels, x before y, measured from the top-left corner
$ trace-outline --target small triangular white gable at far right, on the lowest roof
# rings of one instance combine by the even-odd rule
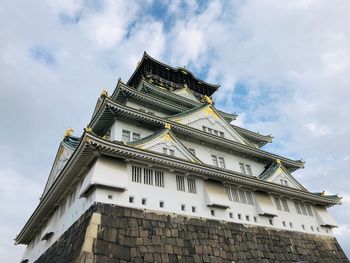
[[[279,159],[267,168],[260,176],[260,179],[272,182],[275,184],[281,184],[287,187],[307,191],[281,164]]]

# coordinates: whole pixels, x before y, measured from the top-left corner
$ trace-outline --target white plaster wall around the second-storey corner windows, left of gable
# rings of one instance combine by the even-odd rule
[[[156,132],[156,131],[152,131],[150,129],[144,128],[142,126],[138,126],[135,123],[116,120],[111,127],[111,134],[110,134],[111,141],[114,141],[114,140],[121,141],[123,130],[139,133],[141,134],[141,138],[147,137]]]

